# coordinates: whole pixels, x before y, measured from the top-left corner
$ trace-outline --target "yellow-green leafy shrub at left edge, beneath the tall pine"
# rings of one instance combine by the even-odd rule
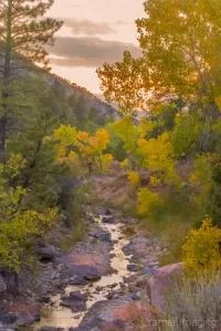
[[[21,259],[25,260],[27,249],[34,238],[43,237],[55,225],[57,209],[44,210],[43,213],[28,207],[28,188],[11,185],[25,169],[25,160],[20,154],[11,159],[0,169],[0,257],[1,266],[19,273]],[[7,175],[7,179],[4,179]],[[24,201],[22,203],[22,201]],[[29,256],[28,256],[29,257]]]

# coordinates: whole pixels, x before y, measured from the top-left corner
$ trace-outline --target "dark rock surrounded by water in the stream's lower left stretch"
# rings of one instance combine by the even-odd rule
[[[71,292],[70,296],[62,297],[61,306],[71,308],[73,312],[86,310],[86,296],[81,292]]]

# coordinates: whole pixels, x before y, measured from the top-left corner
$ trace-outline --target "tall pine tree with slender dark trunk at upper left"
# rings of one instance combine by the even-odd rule
[[[53,0],[0,1],[0,53],[2,57],[2,114],[0,117],[0,153],[4,154],[7,126],[12,118],[10,83],[21,71],[34,68],[33,63],[48,65],[44,45],[53,43],[54,33],[62,22],[41,19]]]

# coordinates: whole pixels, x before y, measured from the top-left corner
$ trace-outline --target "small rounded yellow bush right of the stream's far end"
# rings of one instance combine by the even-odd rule
[[[138,214],[140,215],[148,215],[148,213],[159,206],[161,204],[160,197],[156,194],[150,192],[148,189],[139,189],[137,194],[138,199]]]

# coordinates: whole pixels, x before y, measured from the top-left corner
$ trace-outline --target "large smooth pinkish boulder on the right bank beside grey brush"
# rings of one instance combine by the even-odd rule
[[[149,279],[148,292],[150,297],[151,305],[157,306],[159,310],[164,309],[165,293],[169,290],[172,285],[172,280],[176,276],[181,275],[183,271],[183,264],[172,264],[159,268]]]

